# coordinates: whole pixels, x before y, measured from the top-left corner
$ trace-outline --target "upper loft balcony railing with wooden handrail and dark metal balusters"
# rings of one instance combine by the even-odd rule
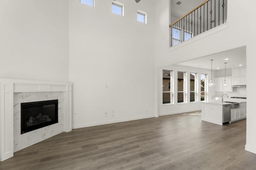
[[[171,47],[204,33],[227,20],[227,0],[206,0],[169,25]]]

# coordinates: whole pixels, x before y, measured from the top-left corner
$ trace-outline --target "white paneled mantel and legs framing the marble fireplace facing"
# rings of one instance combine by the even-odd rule
[[[72,83],[0,78],[0,161],[14,155],[14,93],[64,92],[64,132],[72,130]]]

